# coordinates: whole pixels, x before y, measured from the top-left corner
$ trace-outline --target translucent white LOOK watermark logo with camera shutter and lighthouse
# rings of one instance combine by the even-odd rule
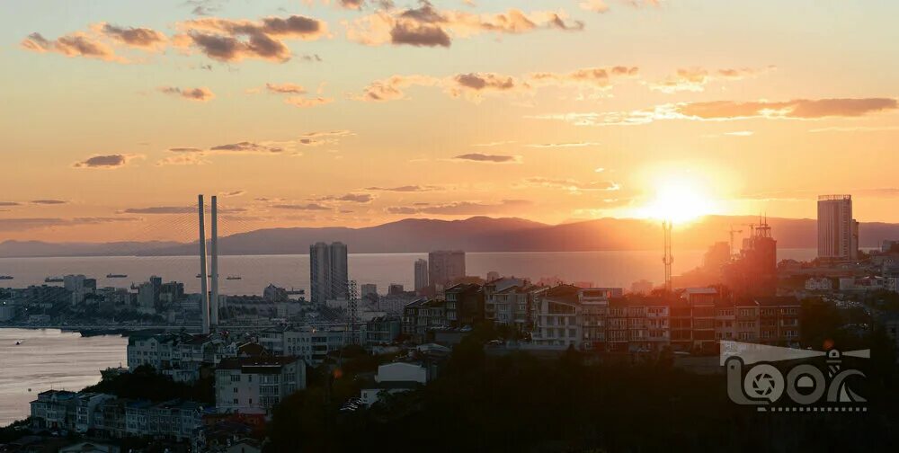
[[[727,372],[731,401],[757,406],[760,412],[867,412],[866,399],[850,388],[850,381],[863,379],[865,374],[843,367],[842,361],[843,357],[870,356],[870,350],[841,353],[836,349],[824,352],[721,342],[720,364]],[[787,369],[785,375],[771,365],[814,358],[823,358],[823,370],[804,362]]]

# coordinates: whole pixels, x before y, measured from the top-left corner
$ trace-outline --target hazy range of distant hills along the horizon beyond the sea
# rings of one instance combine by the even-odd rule
[[[733,227],[736,246],[748,234],[755,217],[710,216],[684,227],[675,227],[674,245],[680,249],[705,249],[729,240]],[[768,218],[780,248],[817,246],[816,222],[808,218]],[[863,223],[861,246],[878,247],[884,239],[899,239],[899,224]],[[466,220],[408,218],[376,227],[271,228],[224,236],[222,254],[308,253],[309,244],[341,241],[352,253],[411,253],[438,249],[467,252],[583,252],[658,250],[659,222],[633,218],[601,218],[547,225],[521,218],[476,217]],[[189,255],[197,244],[152,243],[63,243],[6,241],[0,257],[94,256],[115,254]]]

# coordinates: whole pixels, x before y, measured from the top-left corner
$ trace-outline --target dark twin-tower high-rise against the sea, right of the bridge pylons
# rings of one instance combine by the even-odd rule
[[[313,304],[349,296],[346,244],[309,245],[309,292]]]

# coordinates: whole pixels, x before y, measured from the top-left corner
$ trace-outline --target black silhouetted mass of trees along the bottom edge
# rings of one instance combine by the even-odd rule
[[[314,381],[275,410],[267,451],[879,451],[899,440],[894,377],[874,379],[868,413],[758,413],[728,399],[724,376],[589,364],[574,350],[488,357],[483,341],[367,410],[339,410],[352,373]]]

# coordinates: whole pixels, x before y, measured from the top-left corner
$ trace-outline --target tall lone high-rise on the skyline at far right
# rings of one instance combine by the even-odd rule
[[[852,218],[851,195],[818,197],[818,258],[859,257],[859,223]]]

